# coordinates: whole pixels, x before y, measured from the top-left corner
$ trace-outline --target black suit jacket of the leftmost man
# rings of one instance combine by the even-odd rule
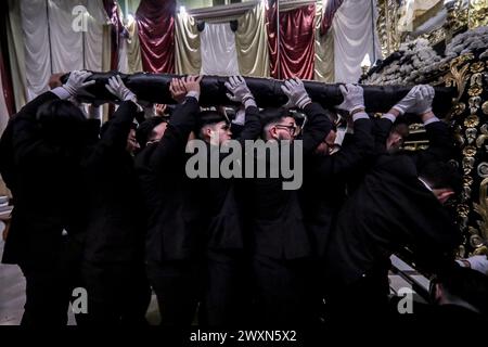
[[[57,97],[52,92],[37,97],[12,124],[9,141],[13,156],[2,170],[8,172],[15,208],[3,262],[55,264],[62,231],[74,237],[85,230],[86,191],[80,166],[85,153],[74,154],[62,145],[47,143],[36,120],[39,106],[53,100]]]

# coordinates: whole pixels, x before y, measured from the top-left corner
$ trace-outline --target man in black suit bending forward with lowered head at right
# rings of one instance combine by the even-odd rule
[[[429,272],[453,260],[461,234],[442,203],[461,182],[444,163],[418,171],[406,155],[376,159],[342,208],[325,252],[332,317],[385,317],[389,256],[403,247]]]

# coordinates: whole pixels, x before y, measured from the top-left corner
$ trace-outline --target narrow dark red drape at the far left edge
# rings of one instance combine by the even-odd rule
[[[7,1],[2,2],[0,5],[0,11],[2,12],[0,15],[0,75],[3,86],[2,94],[3,98],[5,98],[7,110],[11,116],[15,113],[15,101],[12,88],[12,75],[10,73],[9,47],[7,43],[7,23],[9,20],[9,8]]]

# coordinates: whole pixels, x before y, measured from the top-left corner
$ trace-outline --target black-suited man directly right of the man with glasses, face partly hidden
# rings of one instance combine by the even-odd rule
[[[374,149],[372,123],[364,112],[362,88],[354,85],[339,88],[344,101],[338,107],[351,118],[354,133],[349,136],[348,145],[333,154],[335,131],[331,130],[324,137],[314,153],[305,158],[304,187],[300,191],[304,222],[312,239],[317,281],[314,295],[318,303],[324,296],[326,283],[323,257],[332,228],[346,198],[346,177],[357,174],[357,169],[364,159],[371,157]]]

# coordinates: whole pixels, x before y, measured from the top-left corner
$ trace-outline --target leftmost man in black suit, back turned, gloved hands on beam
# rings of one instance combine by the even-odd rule
[[[85,115],[66,99],[91,85],[85,82],[89,76],[72,72],[65,85],[27,103],[12,123],[13,157],[2,174],[8,171],[15,208],[2,261],[17,264],[26,278],[23,325],[67,321],[73,269],[65,248],[85,230],[80,163],[88,133]]]

